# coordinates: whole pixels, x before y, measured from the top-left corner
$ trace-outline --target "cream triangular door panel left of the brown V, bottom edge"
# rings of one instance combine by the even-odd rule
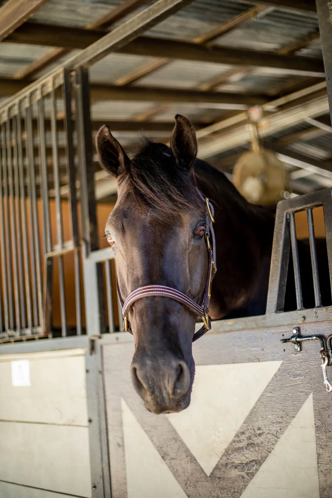
[[[121,410],[128,498],[186,498],[122,398]]]

